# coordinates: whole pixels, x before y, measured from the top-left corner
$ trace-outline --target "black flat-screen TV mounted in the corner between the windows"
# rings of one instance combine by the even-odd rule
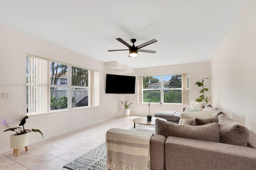
[[[106,93],[134,94],[135,77],[106,74]]]

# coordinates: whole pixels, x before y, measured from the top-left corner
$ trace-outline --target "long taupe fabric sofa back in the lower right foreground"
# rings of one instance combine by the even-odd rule
[[[166,170],[256,169],[256,149],[245,146],[169,136]]]

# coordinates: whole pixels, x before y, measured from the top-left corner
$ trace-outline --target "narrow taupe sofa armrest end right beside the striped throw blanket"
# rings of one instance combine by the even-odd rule
[[[153,134],[150,139],[150,168],[151,170],[165,169],[164,144],[166,137]]]

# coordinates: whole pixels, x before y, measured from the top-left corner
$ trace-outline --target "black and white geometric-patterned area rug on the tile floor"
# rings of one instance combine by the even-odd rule
[[[155,126],[138,125],[136,128],[154,128]],[[129,130],[133,127],[129,128]],[[83,154],[79,158],[76,158],[63,168],[69,170],[106,170],[107,148],[106,142],[100,144],[96,148],[90,150],[86,154]]]

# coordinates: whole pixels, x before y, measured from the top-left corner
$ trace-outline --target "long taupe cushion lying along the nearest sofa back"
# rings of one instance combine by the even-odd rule
[[[211,142],[220,142],[218,123],[210,123],[202,126],[180,125],[176,123],[156,119],[156,134],[176,136]]]

